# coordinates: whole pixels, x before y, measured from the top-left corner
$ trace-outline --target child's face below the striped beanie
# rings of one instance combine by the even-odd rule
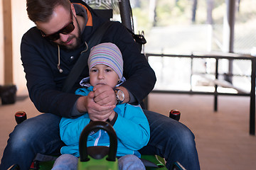
[[[90,69],[90,84],[96,86],[97,84],[108,85],[114,88],[119,81],[119,77],[114,69],[105,64],[97,64]]]

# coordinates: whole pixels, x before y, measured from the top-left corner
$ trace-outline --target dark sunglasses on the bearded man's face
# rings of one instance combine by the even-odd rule
[[[47,38],[48,40],[55,41],[55,40],[58,40],[60,38],[60,33],[65,34],[65,35],[71,33],[75,29],[75,26],[74,26],[74,23],[73,23],[73,13],[72,13],[71,9],[70,9],[70,16],[71,16],[70,22],[55,33],[51,33],[51,34],[46,35],[41,30],[41,34],[42,34],[43,38]]]

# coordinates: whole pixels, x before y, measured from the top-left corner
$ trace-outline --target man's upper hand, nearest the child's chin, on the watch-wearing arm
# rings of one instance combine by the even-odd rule
[[[102,106],[117,104],[116,95],[110,86],[99,84],[93,88],[93,91],[95,92],[95,103]]]

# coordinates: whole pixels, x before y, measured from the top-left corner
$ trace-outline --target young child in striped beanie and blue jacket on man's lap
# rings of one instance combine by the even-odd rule
[[[75,94],[87,96],[93,87],[99,84],[108,85],[112,89],[125,81],[122,77],[123,60],[119,48],[105,42],[92,47],[88,58],[89,75],[82,79],[80,84],[84,86],[75,91]],[[107,121],[117,133],[117,157],[119,169],[145,169],[138,158],[139,149],[149,142],[149,123],[140,106],[132,106],[129,103],[117,103],[111,111]],[[83,128],[90,123],[88,113],[76,119],[62,118],[60,120],[60,137],[65,143],[60,156],[53,169],[77,169],[79,154],[79,138]],[[87,147],[109,146],[107,132],[99,130],[91,132],[87,139]]]

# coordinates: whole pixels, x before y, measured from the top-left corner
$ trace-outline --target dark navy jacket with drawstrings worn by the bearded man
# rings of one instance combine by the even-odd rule
[[[77,11],[78,6],[75,8]],[[82,31],[82,42],[87,41],[103,22],[103,18],[92,12],[93,26],[86,26]],[[137,101],[142,101],[154,88],[156,77],[130,33],[121,23],[114,22],[105,32],[102,42],[113,42],[119,47],[124,60],[124,77],[127,79],[122,86],[128,89]],[[76,96],[74,91],[80,87],[79,81],[89,76],[87,63],[73,89],[69,93],[64,93],[61,89],[84,49],[85,43],[75,50],[60,48],[60,67],[63,69],[60,73],[57,69],[58,46],[42,38],[40,30],[36,27],[23,35],[21,60],[26,73],[28,93],[38,111],[71,117],[75,101],[80,97]]]

